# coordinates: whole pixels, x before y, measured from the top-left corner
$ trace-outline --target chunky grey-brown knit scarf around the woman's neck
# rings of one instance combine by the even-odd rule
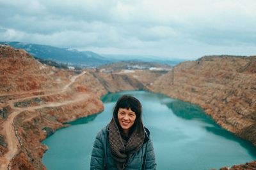
[[[125,141],[121,137],[115,118],[112,118],[109,123],[109,145],[111,156],[115,160],[118,170],[125,169],[132,153],[136,153],[140,150],[144,138],[145,131],[141,120],[138,122],[138,125],[135,127],[128,141]]]

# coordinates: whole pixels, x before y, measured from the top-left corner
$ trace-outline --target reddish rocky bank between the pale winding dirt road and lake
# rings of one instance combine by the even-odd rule
[[[19,161],[10,165],[13,169],[20,169],[24,166],[20,161],[28,160],[34,169],[44,169],[41,158],[47,150],[41,141],[60,127],[65,127],[63,122],[75,120],[79,117],[86,117],[103,110],[102,102],[99,99],[90,97],[88,100],[80,101],[65,106],[40,108],[35,111],[24,111],[14,120],[17,136],[20,136],[20,150],[14,160]],[[22,154],[22,156],[20,156]],[[23,159],[21,159],[23,157]],[[28,166],[28,164],[25,164]],[[31,168],[31,169],[33,169]]]

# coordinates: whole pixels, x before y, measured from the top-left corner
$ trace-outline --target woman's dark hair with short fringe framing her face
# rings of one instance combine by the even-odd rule
[[[134,127],[136,127],[136,125],[138,125],[138,122],[142,122],[141,121],[142,106],[141,106],[140,101],[138,99],[136,99],[135,97],[128,96],[128,95],[121,96],[117,100],[117,102],[115,104],[115,108],[113,110],[113,118],[115,118],[115,122],[118,125],[118,127],[120,128],[118,118],[117,118],[117,113],[118,113],[119,108],[123,108],[123,109],[127,109],[127,110],[131,109],[136,114],[135,122],[131,127],[131,131],[129,131],[129,132],[132,132]]]

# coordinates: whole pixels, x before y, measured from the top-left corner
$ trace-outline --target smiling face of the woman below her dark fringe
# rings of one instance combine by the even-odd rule
[[[117,113],[117,118],[120,126],[122,127],[123,131],[129,132],[129,129],[132,127],[132,125],[135,122],[136,114],[134,111],[129,108],[129,110],[124,108],[119,108]]]

